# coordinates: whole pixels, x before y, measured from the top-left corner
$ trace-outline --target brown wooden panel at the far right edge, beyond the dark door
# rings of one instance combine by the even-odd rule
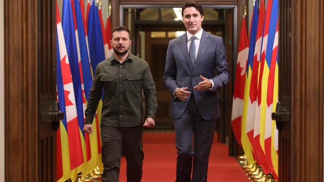
[[[323,182],[323,3],[292,3],[293,182]]]

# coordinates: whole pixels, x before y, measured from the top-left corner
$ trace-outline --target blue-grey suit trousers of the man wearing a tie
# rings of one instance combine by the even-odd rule
[[[178,154],[175,182],[207,182],[208,159],[215,127],[216,119],[204,120],[191,95],[183,114],[174,119]]]

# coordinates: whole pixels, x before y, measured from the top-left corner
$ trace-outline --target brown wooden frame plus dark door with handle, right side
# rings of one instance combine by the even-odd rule
[[[280,182],[323,182],[324,3],[279,1]]]

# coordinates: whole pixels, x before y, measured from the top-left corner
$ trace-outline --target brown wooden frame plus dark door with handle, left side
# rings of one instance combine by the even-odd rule
[[[5,182],[56,181],[55,12],[55,0],[4,1]]]

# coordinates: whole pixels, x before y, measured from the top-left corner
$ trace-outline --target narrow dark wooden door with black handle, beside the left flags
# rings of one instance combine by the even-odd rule
[[[38,65],[38,165],[39,181],[56,181],[56,130],[59,113],[56,102],[56,1],[37,0]]]

